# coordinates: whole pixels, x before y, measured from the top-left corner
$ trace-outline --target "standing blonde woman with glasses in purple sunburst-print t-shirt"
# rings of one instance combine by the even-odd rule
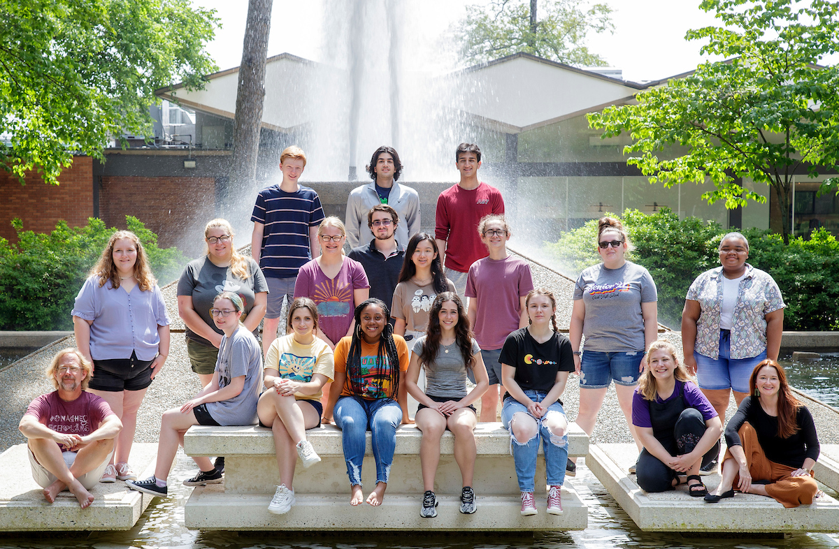
[[[344,255],[347,229],[340,219],[331,215],[317,229],[320,256],[300,267],[294,283],[294,298],[310,298],[317,305],[317,336],[331,350],[341,338],[352,336],[355,310],[370,297],[370,283],[362,264]],[[323,387],[323,417],[332,421],[332,408],[327,404],[331,384]]]

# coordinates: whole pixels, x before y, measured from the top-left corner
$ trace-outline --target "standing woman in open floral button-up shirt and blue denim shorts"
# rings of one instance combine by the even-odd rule
[[[728,233],[719,250],[722,267],[703,272],[687,292],[682,350],[690,374],[725,425],[731,391],[739,406],[754,366],[778,360],[785,305],[772,277],[746,262],[745,236]]]

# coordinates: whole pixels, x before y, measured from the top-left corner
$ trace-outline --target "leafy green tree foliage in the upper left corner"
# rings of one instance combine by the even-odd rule
[[[57,184],[73,153],[149,135],[154,90],[200,88],[216,18],[188,0],[0,0],[0,167]]]

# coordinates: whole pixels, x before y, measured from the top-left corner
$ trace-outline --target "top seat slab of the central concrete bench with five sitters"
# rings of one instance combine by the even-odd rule
[[[343,458],[341,429],[321,425],[306,431],[306,438],[321,457]],[[419,455],[422,432],[414,425],[402,425],[396,430],[395,455]],[[446,432],[440,439],[440,455],[454,453],[455,438]],[[510,434],[498,422],[478,423],[475,429],[477,453],[506,455],[510,453]],[[588,437],[576,423],[569,424],[568,449],[572,457],[588,453]],[[184,451],[190,456],[274,456],[274,435],[267,427],[206,427],[194,426],[184,436]],[[539,453],[542,453],[539,445]],[[367,452],[372,456],[371,435],[367,432]]]

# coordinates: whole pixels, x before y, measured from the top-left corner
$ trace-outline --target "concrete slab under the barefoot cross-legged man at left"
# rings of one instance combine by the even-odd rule
[[[129,462],[140,478],[154,474],[157,444],[134,443]],[[106,531],[130,530],[149,506],[152,496],[129,490],[123,482],[96,484],[96,500],[79,507],[70,492],[61,492],[50,504],[32,479],[26,444],[0,454],[0,531]]]

